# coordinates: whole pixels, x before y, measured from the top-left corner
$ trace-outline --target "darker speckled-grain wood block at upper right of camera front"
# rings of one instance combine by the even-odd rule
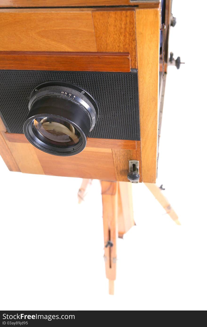
[[[135,11],[93,11],[98,52],[129,52],[131,68],[137,68]]]

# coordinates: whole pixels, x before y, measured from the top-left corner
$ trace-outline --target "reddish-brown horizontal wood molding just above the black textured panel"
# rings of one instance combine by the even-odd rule
[[[129,53],[0,51],[0,69],[124,72]]]

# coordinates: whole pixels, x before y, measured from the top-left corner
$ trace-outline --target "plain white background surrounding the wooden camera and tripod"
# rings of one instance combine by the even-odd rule
[[[177,226],[144,184],[136,226],[118,240],[115,295],[103,261],[100,186],[77,204],[80,179],[9,172],[0,158],[1,310],[206,310],[205,1],[173,1],[157,184]],[[147,87],[147,85],[146,85]]]

